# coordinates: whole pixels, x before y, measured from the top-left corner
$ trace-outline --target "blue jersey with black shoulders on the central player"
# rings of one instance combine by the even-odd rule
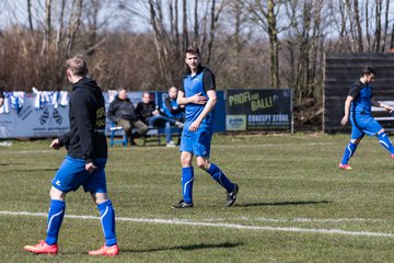
[[[216,90],[215,75],[211,70],[206,67],[199,66],[197,73],[192,75],[187,72],[184,76],[183,81],[181,82],[179,90],[185,93],[185,98],[193,96],[199,92],[201,95],[206,96],[208,100],[207,91]],[[193,123],[201,114],[205,107],[200,104],[189,103],[186,105],[186,123]],[[213,122],[213,112],[207,114],[202,119],[202,124],[212,124]]]

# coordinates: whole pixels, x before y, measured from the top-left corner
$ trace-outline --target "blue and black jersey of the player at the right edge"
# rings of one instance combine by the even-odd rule
[[[350,87],[349,96],[354,98],[350,112],[371,115],[372,89],[369,84],[355,82]]]

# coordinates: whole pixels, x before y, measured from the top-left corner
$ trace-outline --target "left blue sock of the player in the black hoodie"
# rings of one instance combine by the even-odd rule
[[[48,211],[48,229],[45,242],[56,244],[66,211],[66,202],[51,199]]]

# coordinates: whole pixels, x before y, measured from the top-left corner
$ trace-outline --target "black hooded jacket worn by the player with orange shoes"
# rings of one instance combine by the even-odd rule
[[[90,78],[73,84],[69,102],[70,132],[59,139],[68,156],[86,163],[107,158],[105,102],[101,89]]]

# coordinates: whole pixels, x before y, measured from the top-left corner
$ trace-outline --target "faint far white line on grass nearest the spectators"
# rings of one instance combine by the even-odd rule
[[[308,144],[258,144],[258,145],[212,145],[212,148],[260,148],[260,147],[287,147],[287,146],[331,146],[337,145],[335,142],[308,142]],[[163,147],[158,147],[164,149]],[[114,148],[112,150],[124,150],[125,147]],[[143,149],[143,148],[140,148]],[[151,149],[151,147],[149,147]],[[31,155],[31,153],[54,153],[57,152],[53,149],[49,150],[7,150],[0,151],[0,155]]]

